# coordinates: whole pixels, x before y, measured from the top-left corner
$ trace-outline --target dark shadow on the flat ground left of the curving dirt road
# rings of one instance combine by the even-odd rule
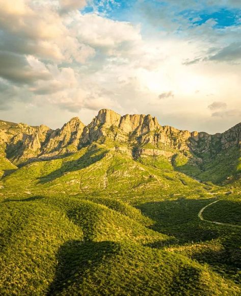
[[[220,236],[217,226],[201,221],[198,213],[213,199],[168,200],[149,202],[137,206],[142,214],[155,221],[151,229],[174,236],[180,244],[199,242]]]

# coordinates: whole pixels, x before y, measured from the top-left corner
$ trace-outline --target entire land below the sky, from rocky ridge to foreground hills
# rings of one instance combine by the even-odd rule
[[[240,131],[0,121],[0,294],[240,294]]]

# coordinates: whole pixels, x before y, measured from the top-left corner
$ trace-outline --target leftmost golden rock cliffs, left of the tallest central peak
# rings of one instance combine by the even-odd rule
[[[15,164],[76,151],[85,127],[77,117],[55,131],[43,125],[30,127],[5,123],[0,122],[0,145],[4,146],[5,155]]]

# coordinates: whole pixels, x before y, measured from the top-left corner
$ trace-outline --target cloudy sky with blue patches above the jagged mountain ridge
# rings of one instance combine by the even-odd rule
[[[59,128],[102,108],[240,122],[240,0],[0,0],[0,118]]]

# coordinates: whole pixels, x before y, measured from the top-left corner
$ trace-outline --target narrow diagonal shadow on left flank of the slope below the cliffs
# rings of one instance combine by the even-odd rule
[[[47,176],[40,177],[39,183],[44,184],[62,177],[66,172],[76,171],[86,168],[91,164],[101,160],[105,156],[105,151],[101,149],[87,151],[82,157],[77,160],[66,161],[61,168],[50,172]]]

